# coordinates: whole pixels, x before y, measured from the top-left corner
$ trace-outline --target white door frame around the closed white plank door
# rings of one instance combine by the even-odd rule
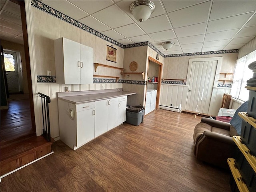
[[[214,76],[214,84],[213,84],[213,87],[212,87],[212,90],[213,90],[213,88],[217,88],[217,86],[218,86],[218,81],[219,81],[219,77],[220,77],[220,70],[221,70],[221,66],[222,66],[222,57],[206,57],[206,58],[191,58],[191,59],[189,59],[186,85],[188,85],[188,87],[189,87],[190,77],[191,77],[191,72],[192,72],[192,63],[193,62],[202,62],[202,61],[217,61],[217,67],[216,67],[216,72],[215,72],[215,76]],[[189,92],[189,89],[188,89],[188,92]],[[186,109],[187,104],[188,104],[188,92],[187,92],[187,96],[186,96],[185,109]],[[210,98],[210,103],[211,102],[212,102],[212,98]]]

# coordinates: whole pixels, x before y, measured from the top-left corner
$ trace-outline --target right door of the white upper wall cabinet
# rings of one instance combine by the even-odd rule
[[[81,84],[93,84],[93,48],[80,44]]]

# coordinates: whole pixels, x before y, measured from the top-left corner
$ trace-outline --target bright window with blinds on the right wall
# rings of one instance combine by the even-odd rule
[[[253,72],[248,68],[248,65],[254,61],[256,61],[256,50],[236,60],[236,68],[231,88],[233,98],[243,102],[248,100],[249,91],[244,87],[246,86],[247,80],[253,76]]]

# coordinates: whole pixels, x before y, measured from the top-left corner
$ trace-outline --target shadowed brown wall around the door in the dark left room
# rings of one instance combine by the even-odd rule
[[[27,79],[24,45],[14,43],[14,42],[9,42],[9,41],[2,40],[2,39],[1,39],[1,45],[3,46],[4,49],[20,52],[21,63],[22,63],[22,72],[23,72],[22,73],[23,92],[28,94],[28,79]]]

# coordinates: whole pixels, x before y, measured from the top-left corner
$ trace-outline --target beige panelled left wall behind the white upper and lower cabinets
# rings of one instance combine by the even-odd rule
[[[86,46],[94,48],[94,62],[107,64],[110,66],[123,67],[124,49],[114,45],[117,48],[117,62],[106,61],[106,45],[112,45],[109,42],[98,38],[80,28],[77,28],[67,22],[64,22],[46,12],[32,7],[33,15],[33,33],[34,44],[36,51],[36,74],[46,75],[47,70],[52,71],[52,76],[55,75],[55,61],[54,61],[54,40],[60,37],[68,38],[70,40],[79,42]],[[104,68],[99,66],[97,75],[103,76],[119,76],[120,70],[112,68]],[[51,98],[50,107],[50,126],[52,138],[59,136],[59,121],[58,121],[58,99],[57,92],[64,92],[65,86],[70,87],[70,91],[83,90],[101,90],[122,88],[121,83],[106,83],[106,84],[56,84],[56,83],[38,83],[38,92],[42,92]]]

